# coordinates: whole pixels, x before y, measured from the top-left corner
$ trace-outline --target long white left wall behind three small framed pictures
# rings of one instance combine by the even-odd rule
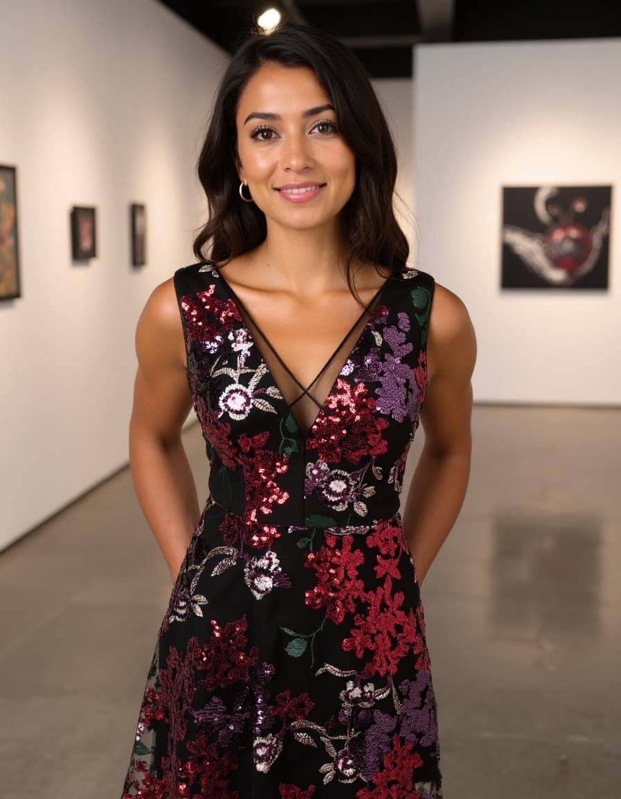
[[[227,62],[153,0],[2,0],[2,19],[23,296],[0,303],[0,549],[127,462],[136,319],[193,260],[196,154]],[[147,205],[140,270],[132,201]],[[97,206],[87,266],[71,260],[72,205]]]

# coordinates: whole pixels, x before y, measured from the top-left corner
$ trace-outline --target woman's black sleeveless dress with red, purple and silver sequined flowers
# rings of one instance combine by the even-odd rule
[[[210,496],[160,628],[123,799],[440,799],[398,512],[433,278],[386,280],[305,388],[225,273],[175,275]],[[284,399],[295,384],[317,407],[308,431]]]

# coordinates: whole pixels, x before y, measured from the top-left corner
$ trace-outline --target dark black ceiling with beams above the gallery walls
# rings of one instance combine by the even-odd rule
[[[421,42],[621,36],[618,0],[160,0],[225,50],[269,7],[328,31],[372,78],[409,78]]]

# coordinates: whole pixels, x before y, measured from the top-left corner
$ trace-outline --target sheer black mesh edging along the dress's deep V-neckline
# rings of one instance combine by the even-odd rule
[[[338,369],[338,372],[337,372],[336,376],[334,377],[334,380],[332,381],[332,384],[330,385],[330,390],[326,394],[326,396],[325,396],[325,398],[324,398],[322,403],[315,402],[315,404],[318,407],[317,414],[314,416],[314,419],[310,423],[310,427],[308,428],[308,430],[306,432],[304,432],[302,430],[302,427],[300,426],[300,423],[299,423],[297,417],[295,416],[295,413],[292,410],[292,406],[287,402],[287,398],[284,396],[283,392],[281,391],[281,389],[279,387],[279,384],[275,380],[274,373],[272,372],[272,370],[270,368],[270,365],[267,363],[267,360],[265,360],[265,358],[263,357],[263,353],[261,352],[260,348],[257,346],[255,335],[251,331],[251,329],[248,327],[247,321],[244,318],[244,314],[248,317],[248,320],[250,321],[250,323],[253,326],[255,326],[255,328],[259,332],[259,335],[263,336],[263,339],[266,341],[267,346],[271,349],[271,352],[274,353],[274,355],[279,360],[280,364],[282,364],[283,368],[285,368],[285,370],[287,371],[289,376],[292,378],[292,380],[295,381],[295,384],[297,384],[299,386],[299,388],[303,388],[302,384],[299,382],[297,377],[294,376],[293,372],[291,372],[291,370],[288,368],[287,364],[285,364],[285,362],[282,360],[282,358],[278,355],[278,352],[275,350],[275,348],[273,347],[271,342],[267,339],[267,336],[265,336],[265,334],[261,331],[259,326],[256,324],[256,322],[252,318],[251,314],[247,311],[247,308],[243,304],[242,300],[240,300],[239,297],[237,296],[237,294],[235,292],[235,289],[232,288],[232,286],[228,283],[228,281],[223,276],[223,274],[220,271],[220,269],[216,267],[216,264],[214,264],[212,261],[206,261],[205,265],[209,266],[210,268],[212,268],[213,271],[216,272],[216,275],[222,281],[224,290],[227,292],[227,297],[231,301],[231,303],[235,306],[235,310],[237,311],[237,315],[239,316],[239,319],[241,320],[241,322],[243,324],[243,328],[244,328],[245,332],[247,332],[247,335],[250,337],[250,340],[251,340],[251,342],[252,342],[252,344],[253,344],[253,346],[255,348],[255,352],[257,353],[257,356],[259,357],[259,361],[260,361],[261,366],[265,369],[265,372],[266,372],[267,376],[269,376],[269,379],[271,381],[272,386],[276,389],[277,392],[279,392],[279,396],[283,400],[283,403],[284,403],[285,407],[287,407],[287,410],[289,411],[289,415],[291,415],[291,418],[294,420],[295,427],[296,427],[296,429],[297,429],[297,431],[299,433],[300,438],[303,439],[304,446],[306,447],[308,439],[310,438],[310,431],[312,431],[314,425],[317,423],[317,420],[322,415],[322,413],[326,410],[326,403],[327,403],[328,400],[330,400],[330,397],[333,395],[334,389],[336,388],[337,381],[341,377],[342,370],[346,366],[347,361],[350,360],[351,356],[354,354],[354,352],[358,348],[358,345],[362,341],[362,338],[366,335],[366,331],[367,331],[367,329],[369,327],[370,321],[371,321],[372,317],[374,316],[374,311],[375,311],[376,308],[378,308],[378,305],[382,302],[382,298],[384,296],[384,293],[386,292],[386,287],[390,283],[390,281],[392,280],[393,275],[392,274],[389,275],[386,278],[386,280],[382,283],[380,288],[378,288],[378,291],[375,292],[374,296],[371,298],[370,302],[366,305],[366,308],[364,309],[362,314],[360,316],[358,316],[358,319],[355,321],[354,325],[347,332],[345,338],[342,339],[341,344],[339,344],[338,348],[336,350],[334,350],[333,355],[330,356],[330,359],[322,367],[322,370],[320,372],[318,372],[318,375],[314,378],[314,380],[307,387],[306,390],[308,390],[308,388],[310,388],[318,380],[318,378],[323,374],[323,372],[325,371],[326,367],[334,360],[334,357],[338,353],[338,350],[342,348],[343,344],[352,335],[352,333],[354,332],[355,328],[357,328],[358,325],[361,323],[362,316],[364,316],[364,314],[366,313],[367,314],[367,318],[366,318],[364,324],[362,324],[362,327],[360,328],[360,332],[358,333],[358,336],[355,337],[354,344],[348,350],[345,360],[343,360],[341,367]]]

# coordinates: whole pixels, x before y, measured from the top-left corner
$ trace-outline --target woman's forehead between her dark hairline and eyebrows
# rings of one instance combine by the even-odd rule
[[[245,85],[237,116],[239,119],[243,113],[275,110],[268,106],[278,106],[279,113],[295,112],[330,101],[330,95],[309,67],[265,64]]]

